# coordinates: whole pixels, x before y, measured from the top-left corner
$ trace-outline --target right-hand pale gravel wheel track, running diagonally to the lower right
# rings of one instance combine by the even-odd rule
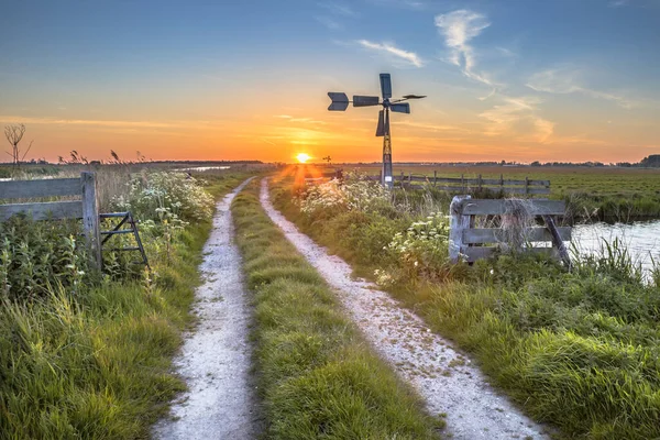
[[[271,204],[266,179],[260,198],[273,222],[337,290],[372,345],[421,395],[429,413],[447,414],[447,433],[469,440],[548,438],[544,428],[497,393],[466,355],[373,284],[351,279],[343,260],[300,233]]]

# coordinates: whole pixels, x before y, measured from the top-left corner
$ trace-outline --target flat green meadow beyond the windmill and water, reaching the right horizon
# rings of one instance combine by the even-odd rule
[[[378,175],[375,165],[338,165]],[[394,165],[394,175],[550,180],[550,198],[568,204],[575,221],[623,221],[660,218],[660,168],[538,167],[538,166],[437,166]]]

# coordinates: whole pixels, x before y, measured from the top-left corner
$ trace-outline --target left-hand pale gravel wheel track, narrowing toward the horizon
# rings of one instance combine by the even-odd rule
[[[188,384],[170,418],[154,428],[158,439],[253,439],[257,413],[251,385],[251,321],[241,256],[233,243],[230,205],[252,178],[218,202],[213,231],[200,265],[206,282],[196,292],[199,324],[175,365]]]

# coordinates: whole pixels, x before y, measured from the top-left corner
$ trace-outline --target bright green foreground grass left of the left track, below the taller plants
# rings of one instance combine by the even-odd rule
[[[108,278],[73,294],[51,279],[34,300],[0,298],[0,438],[148,438],[185,388],[172,358],[211,227],[197,222],[167,261],[151,258],[155,280]]]

